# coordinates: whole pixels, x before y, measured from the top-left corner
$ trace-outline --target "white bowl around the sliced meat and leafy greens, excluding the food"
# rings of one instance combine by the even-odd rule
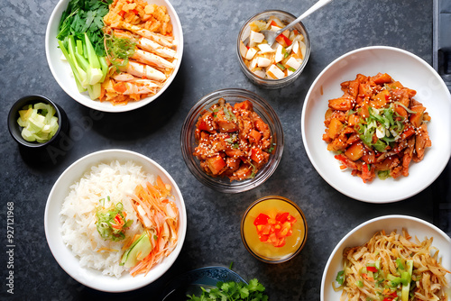
[[[47,30],[45,32],[45,54],[47,62],[51,68],[51,74],[58,82],[60,87],[73,99],[78,101],[81,105],[86,105],[92,109],[103,112],[126,112],[140,108],[143,105],[151,103],[153,100],[161,96],[161,94],[170,86],[172,80],[176,77],[179,71],[181,58],[183,55],[183,32],[181,29],[181,23],[179,16],[177,15],[174,7],[168,0],[148,0],[149,3],[156,5],[165,5],[168,8],[168,14],[172,22],[172,32],[174,39],[177,42],[177,63],[174,71],[170,75],[170,78],[166,80],[164,86],[154,96],[143,98],[137,102],[130,102],[127,105],[111,105],[110,102],[100,102],[98,100],[91,100],[87,92],[79,93],[75,79],[72,75],[69,63],[62,60],[62,52],[58,48],[58,40],[56,38],[58,32],[58,25],[60,23],[61,14],[66,10],[69,4],[69,0],[60,0],[55,6],[55,9],[51,13],[51,18],[47,24]]]

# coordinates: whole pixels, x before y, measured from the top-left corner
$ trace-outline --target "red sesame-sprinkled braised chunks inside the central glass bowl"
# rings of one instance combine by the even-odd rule
[[[231,181],[253,178],[272,152],[270,127],[248,100],[232,106],[221,98],[201,114],[195,135],[201,168]]]

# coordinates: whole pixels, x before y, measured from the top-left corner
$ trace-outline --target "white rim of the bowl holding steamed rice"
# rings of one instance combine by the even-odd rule
[[[180,204],[178,206],[179,207],[179,214],[180,214],[179,241],[177,243],[176,248],[170,253],[170,256],[172,256],[171,260],[168,261],[168,264],[166,265],[166,267],[164,267],[164,269],[161,270],[161,274],[158,275],[157,277],[149,278],[149,280],[141,281],[139,284],[133,285],[133,286],[130,286],[130,287],[97,286],[96,284],[93,284],[93,282],[87,281],[87,279],[85,279],[85,278],[80,278],[79,275],[76,275],[74,271],[66,269],[63,256],[60,256],[60,254],[55,251],[57,242],[55,242],[54,241],[55,239],[54,238],[52,239],[50,237],[50,234],[49,234],[50,233],[50,228],[49,228],[50,224],[48,223],[48,221],[49,221],[49,218],[50,218],[49,211],[50,211],[51,197],[53,196],[53,194],[55,194],[55,191],[56,191],[57,187],[59,187],[60,182],[62,181],[62,179],[65,178],[65,176],[68,175],[70,172],[72,172],[72,169],[75,169],[75,167],[80,162],[82,162],[84,160],[89,160],[92,157],[103,157],[103,158],[105,158],[105,160],[108,160],[106,156],[109,155],[109,154],[111,154],[111,155],[113,155],[113,154],[125,154],[125,155],[138,157],[141,160],[149,162],[156,169],[159,169],[161,171],[161,173],[165,177],[170,179],[171,187],[174,190],[173,195],[179,196],[179,202],[180,202]],[[97,162],[99,162],[99,161],[101,161],[101,159],[97,160]],[[89,164],[89,167],[93,166],[93,164],[95,164],[95,163]],[[67,183],[67,184],[63,184],[63,185],[66,185],[69,188],[70,185],[72,185],[72,184],[73,183]],[[62,202],[63,201],[61,200],[61,204],[62,204]],[[58,223],[60,223],[60,221]],[[141,288],[141,287],[144,287],[144,286],[147,286],[147,285],[151,284],[153,281],[155,281],[158,278],[160,278],[168,269],[170,269],[170,267],[175,262],[175,260],[177,260],[177,258],[179,256],[179,253],[180,253],[180,251],[182,249],[183,243],[185,242],[185,237],[186,237],[186,233],[187,233],[187,211],[186,211],[186,206],[185,206],[185,202],[184,202],[183,196],[181,194],[181,191],[179,190],[179,187],[178,187],[177,183],[170,176],[170,174],[166,171],[166,169],[163,169],[161,167],[160,164],[158,164],[154,160],[144,156],[143,154],[135,152],[133,150],[123,150],[123,149],[97,150],[95,152],[87,154],[86,156],[81,157],[80,159],[78,159],[75,162],[73,162],[72,164],[70,164],[69,167],[67,169],[65,169],[61,173],[60,177],[55,181],[55,184],[51,188],[51,192],[50,192],[50,194],[49,194],[49,196],[47,198],[46,205],[45,205],[44,232],[45,232],[47,244],[49,246],[49,249],[51,250],[51,253],[52,253],[53,257],[58,262],[58,264],[60,265],[61,269],[64,269],[64,271],[66,271],[66,273],[68,273],[68,275],[71,278],[76,279],[79,283],[81,283],[84,286],[91,287],[91,288],[94,288],[94,289],[97,289],[97,290],[100,290],[100,291],[112,292],[112,293],[126,292],[126,291],[131,291],[131,290],[138,289],[138,288]],[[65,247],[67,248],[67,246],[65,246]],[[73,256],[75,257],[75,255],[73,255]],[[161,263],[159,263],[159,264],[161,264]],[[86,268],[82,268],[82,269],[86,269]],[[86,270],[89,272],[90,269],[86,269]],[[152,271],[148,275],[146,275],[145,277],[149,277],[150,274],[152,274]],[[105,277],[110,279],[110,280],[117,279],[117,278],[112,277],[112,276],[105,276]],[[124,277],[124,275],[122,275],[121,277]],[[143,275],[138,275],[136,277],[144,277],[144,276]]]

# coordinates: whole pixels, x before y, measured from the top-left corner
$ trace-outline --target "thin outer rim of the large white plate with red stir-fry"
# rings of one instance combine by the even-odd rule
[[[373,199],[367,198],[367,197],[354,196],[349,191],[346,191],[343,187],[337,186],[336,183],[334,183],[331,178],[328,178],[327,175],[321,169],[319,169],[318,164],[315,162],[315,160],[313,160],[313,155],[312,155],[311,151],[308,149],[308,145],[306,144],[306,141],[307,141],[307,133],[306,133],[306,128],[305,128],[306,111],[307,111],[307,106],[308,106],[308,99],[309,99],[310,95],[312,94],[314,87],[317,86],[318,81],[323,77],[324,74],[327,73],[327,71],[330,68],[335,67],[337,62],[339,62],[342,59],[345,59],[346,57],[350,57],[350,56],[354,55],[355,53],[364,52],[364,51],[368,51],[368,50],[391,50],[391,51],[395,51],[395,52],[400,52],[402,54],[405,54],[405,55],[409,56],[411,59],[417,60],[424,68],[428,68],[428,70],[432,74],[435,75],[435,77],[439,80],[440,86],[444,87],[443,90],[445,91],[448,100],[451,100],[450,91],[447,89],[445,83],[443,82],[443,79],[438,75],[437,71],[434,68],[432,68],[424,59],[419,58],[419,56],[411,53],[410,51],[402,50],[402,49],[396,48],[396,47],[383,46],[383,45],[367,46],[367,47],[363,47],[363,48],[360,48],[360,49],[351,50],[349,52],[346,52],[345,54],[341,55],[337,59],[334,59],[331,63],[329,63],[327,65],[326,68],[324,68],[318,74],[318,77],[314,80],[314,82],[309,87],[308,93],[307,93],[306,97],[304,98],[304,103],[302,105],[302,114],[301,114],[301,122],[300,122],[301,135],[302,135],[302,141],[303,141],[304,149],[306,150],[307,155],[308,155],[308,159],[310,160],[310,162],[313,165],[313,167],[318,171],[318,174],[321,176],[321,178],[323,178],[325,181],[327,181],[327,183],[331,187],[334,187],[337,191],[339,191],[340,193],[344,194],[345,196],[352,197],[352,198],[354,198],[356,200],[359,200],[359,201],[363,201],[363,202],[367,202],[367,203],[377,203],[377,204],[392,203],[392,202],[397,202],[397,201],[409,198],[410,196],[415,196],[419,192],[421,192],[422,190],[426,189],[430,184],[432,184],[440,176],[441,172],[446,168],[447,161],[449,161],[451,159],[451,148],[449,148],[449,150],[447,152],[447,160],[446,161],[443,160],[443,162],[440,165],[439,169],[436,169],[437,173],[436,173],[434,178],[429,178],[428,182],[423,183],[422,185],[420,185],[419,187],[416,187],[415,189],[411,189],[410,191],[405,193],[403,196],[394,197],[394,198],[393,197],[387,197],[387,198],[385,198],[383,200],[376,201],[376,200],[373,200]]]

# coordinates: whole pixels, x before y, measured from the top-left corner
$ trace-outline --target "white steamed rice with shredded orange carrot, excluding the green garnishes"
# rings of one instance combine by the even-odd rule
[[[69,195],[66,196],[61,206],[60,230],[62,241],[79,258],[81,267],[97,269],[103,275],[119,278],[125,270],[129,270],[132,275],[133,272],[134,274],[147,273],[155,264],[169,255],[177,244],[177,230],[179,228],[178,209],[171,202],[171,197],[161,197],[161,200],[164,199],[162,204],[170,207],[170,211],[172,211],[167,212],[168,219],[164,221],[164,227],[161,226],[161,229],[165,231],[159,230],[157,225],[152,224],[158,220],[156,217],[147,216],[144,224],[143,218],[146,218],[146,214],[143,213],[143,210],[141,214],[136,210],[137,206],[143,205],[142,196],[139,194],[136,196],[136,187],[144,187],[145,189],[146,183],[156,187],[158,183],[162,183],[159,180],[160,178],[144,172],[141,166],[136,165],[131,160],[126,162],[113,160],[107,164],[100,163],[91,167],[78,182],[69,187]],[[127,222],[129,226],[124,227],[124,239],[105,239],[98,230],[97,213],[118,204],[122,204],[122,211],[125,216],[124,222],[132,222]],[[152,212],[152,209],[149,209],[148,212]],[[177,214],[176,218],[173,218],[174,214]],[[173,224],[166,222],[172,219],[177,222]],[[152,223],[150,224],[149,221]],[[166,225],[166,223],[169,225]],[[113,227],[115,225],[115,223],[112,223]],[[133,242],[136,242],[143,233],[147,233],[149,241],[152,243],[152,251],[144,260],[151,260],[152,262],[145,267],[138,267],[139,269],[127,267],[127,264],[124,265],[123,262],[124,254],[133,249]],[[163,247],[162,243],[164,243]],[[159,253],[156,256],[153,253],[156,251],[161,251],[161,254]],[[143,263],[144,260],[142,259],[140,263]]]

